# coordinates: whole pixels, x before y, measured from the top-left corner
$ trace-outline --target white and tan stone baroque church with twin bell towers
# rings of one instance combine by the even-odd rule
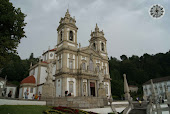
[[[34,66],[30,66],[30,73],[20,84],[19,98],[24,98],[24,92],[28,90],[28,98],[42,93],[42,86],[46,81],[47,65],[53,63],[53,83],[55,97],[65,97],[65,92],[71,96],[97,97],[100,77],[106,91],[106,96],[111,95],[111,78],[109,75],[108,54],[106,38],[97,24],[91,32],[89,46],[81,47],[77,43],[75,18],[72,18],[67,10],[65,17],[61,18],[57,28],[58,39],[54,49],[48,49],[42,54],[42,60]]]

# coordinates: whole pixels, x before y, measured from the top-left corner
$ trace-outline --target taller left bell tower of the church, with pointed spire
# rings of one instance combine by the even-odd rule
[[[77,26],[75,17],[71,17],[67,9],[65,16],[60,19],[57,39],[57,47],[77,48]]]

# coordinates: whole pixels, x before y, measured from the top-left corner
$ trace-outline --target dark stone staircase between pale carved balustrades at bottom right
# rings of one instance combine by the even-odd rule
[[[143,102],[141,105],[138,102],[133,103],[134,109],[129,114],[146,114],[147,102]]]

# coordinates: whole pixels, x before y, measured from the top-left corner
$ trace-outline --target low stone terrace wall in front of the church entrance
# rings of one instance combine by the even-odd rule
[[[59,97],[46,99],[49,106],[66,106],[71,108],[103,108],[108,105],[107,98],[100,97]]]

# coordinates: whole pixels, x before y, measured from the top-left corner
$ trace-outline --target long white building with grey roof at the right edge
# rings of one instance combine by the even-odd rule
[[[170,88],[169,88],[170,87],[170,76],[155,78],[152,80],[153,80],[156,94],[165,98],[166,97],[165,89],[167,89],[167,91],[170,92]],[[149,97],[151,95],[151,81],[150,80],[143,84],[143,93],[146,97]]]

